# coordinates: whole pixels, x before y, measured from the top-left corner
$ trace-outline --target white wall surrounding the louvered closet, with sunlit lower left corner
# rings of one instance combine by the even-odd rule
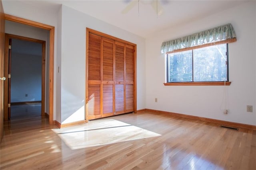
[[[62,123],[85,119],[86,27],[137,44],[137,109],[145,108],[145,39],[62,6]]]

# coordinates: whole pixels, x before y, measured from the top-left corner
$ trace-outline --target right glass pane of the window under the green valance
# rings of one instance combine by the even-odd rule
[[[194,82],[227,81],[227,44],[194,50]]]

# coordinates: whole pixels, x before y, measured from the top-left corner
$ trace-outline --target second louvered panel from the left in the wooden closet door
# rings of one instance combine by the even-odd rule
[[[102,38],[102,117],[114,115],[114,41]]]

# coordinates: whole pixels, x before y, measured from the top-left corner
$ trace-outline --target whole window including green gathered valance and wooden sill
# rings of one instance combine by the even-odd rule
[[[236,42],[236,33],[230,23],[162,42],[167,68],[164,85],[230,85],[231,42]]]

